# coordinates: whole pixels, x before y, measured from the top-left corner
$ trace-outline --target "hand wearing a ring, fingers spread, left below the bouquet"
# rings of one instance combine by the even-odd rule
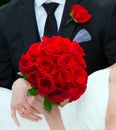
[[[21,117],[28,120],[38,121],[41,119],[41,117],[37,115],[40,112],[28,103],[28,98],[30,97],[27,96],[27,90],[30,87],[31,85],[23,78],[17,79],[12,86],[11,116],[18,126],[20,123],[17,119],[16,111]]]

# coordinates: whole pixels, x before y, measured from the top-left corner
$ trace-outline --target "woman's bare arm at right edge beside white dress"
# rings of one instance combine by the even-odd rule
[[[110,72],[106,130],[116,130],[116,65],[112,67]]]

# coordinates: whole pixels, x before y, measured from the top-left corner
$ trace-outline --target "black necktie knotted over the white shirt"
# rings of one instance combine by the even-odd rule
[[[53,35],[57,35],[57,23],[54,16],[54,12],[57,8],[57,3],[49,3],[49,4],[43,4],[44,9],[47,13],[47,19],[44,26],[44,36],[51,37]]]

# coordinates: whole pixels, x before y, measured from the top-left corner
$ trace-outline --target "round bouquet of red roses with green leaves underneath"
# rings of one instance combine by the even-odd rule
[[[76,41],[61,36],[32,44],[19,62],[20,74],[32,86],[28,95],[44,96],[47,111],[66,99],[77,100],[86,90],[84,55]]]

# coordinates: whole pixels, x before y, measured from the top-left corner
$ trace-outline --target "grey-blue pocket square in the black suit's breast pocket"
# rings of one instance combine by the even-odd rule
[[[86,29],[81,29],[73,39],[73,41],[77,41],[79,43],[88,42],[90,40],[91,40],[91,35]]]

